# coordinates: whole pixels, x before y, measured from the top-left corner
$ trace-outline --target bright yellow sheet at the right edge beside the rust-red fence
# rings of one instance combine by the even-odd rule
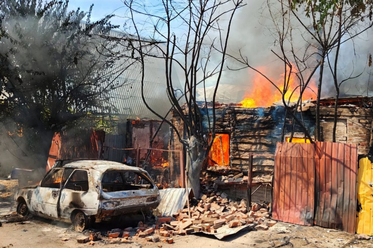
[[[356,232],[373,235],[373,163],[368,158],[359,160],[357,170],[357,204],[360,211],[356,217]]]

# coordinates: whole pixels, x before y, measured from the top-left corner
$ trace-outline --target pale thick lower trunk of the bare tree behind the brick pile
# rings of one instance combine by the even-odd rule
[[[204,161],[204,146],[195,136],[189,139],[189,149],[186,157],[186,177],[188,187],[193,190],[194,196],[199,199],[200,196],[200,173]]]

